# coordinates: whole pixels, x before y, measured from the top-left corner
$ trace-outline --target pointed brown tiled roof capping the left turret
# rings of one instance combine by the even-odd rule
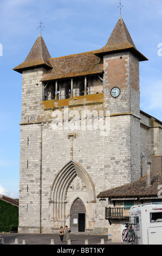
[[[16,66],[14,70],[22,73],[23,70],[34,68],[36,66],[46,66],[47,68],[52,68],[49,63],[50,58],[51,57],[47,46],[40,33],[37,40],[35,41],[34,46],[31,48],[28,57],[22,64]]]

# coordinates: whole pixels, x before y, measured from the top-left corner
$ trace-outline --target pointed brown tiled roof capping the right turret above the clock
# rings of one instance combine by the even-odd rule
[[[127,50],[132,51],[132,53],[134,53],[140,61],[147,60],[147,58],[143,56],[135,47],[131,35],[129,34],[128,29],[125,25],[125,22],[122,20],[122,17],[120,15],[120,19],[116,23],[116,26],[107,44],[101,49],[94,51],[94,54],[110,54],[114,51],[121,52]]]

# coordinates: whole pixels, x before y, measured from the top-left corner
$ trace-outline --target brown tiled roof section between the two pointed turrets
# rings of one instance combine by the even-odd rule
[[[53,69],[48,70],[41,81],[93,75],[103,71],[103,61],[93,51],[49,59],[49,63]]]

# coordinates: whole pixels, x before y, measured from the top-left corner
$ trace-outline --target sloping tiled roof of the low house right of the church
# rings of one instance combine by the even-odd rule
[[[154,176],[152,179],[152,186],[146,186],[146,176],[134,181],[130,184],[111,188],[106,191],[102,191],[98,194],[97,198],[113,197],[151,197],[158,196],[158,186],[162,184],[162,174]]]

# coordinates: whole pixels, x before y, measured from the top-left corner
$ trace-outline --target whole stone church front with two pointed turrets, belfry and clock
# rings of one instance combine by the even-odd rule
[[[141,176],[139,62],[120,16],[100,50],[51,58],[41,34],[22,74],[21,233],[106,234],[100,191]]]

